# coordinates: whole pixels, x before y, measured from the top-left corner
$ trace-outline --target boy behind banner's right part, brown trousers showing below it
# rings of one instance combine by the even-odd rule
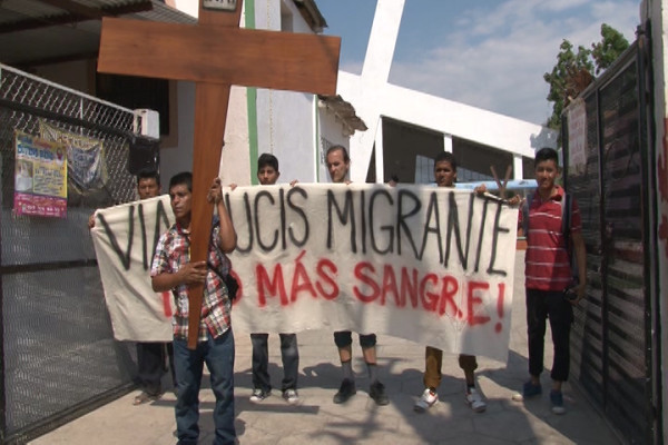
[[[436,156],[434,159],[434,180],[439,187],[454,187],[456,180],[456,159],[454,158],[454,155],[443,151]],[[414,405],[414,409],[418,413],[425,412],[439,402],[436,388],[441,385],[443,352],[428,346],[424,350],[424,392]],[[478,389],[475,389],[474,372],[478,368],[475,356],[460,354],[459,364],[466,378],[466,392],[464,394],[466,403],[475,413],[484,412],[487,403],[482,399]]]

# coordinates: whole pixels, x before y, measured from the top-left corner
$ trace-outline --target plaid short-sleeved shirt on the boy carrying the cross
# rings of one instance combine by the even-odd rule
[[[202,314],[199,317],[199,342],[206,342],[207,330],[214,338],[224,334],[230,327],[232,301],[227,296],[227,286],[220,279],[229,271],[229,259],[218,247],[220,226],[212,230],[208,249],[208,271],[205,279]],[[174,225],[160,236],[156,246],[150,276],[174,274],[190,260],[189,234],[178,225]],[[214,267],[220,276],[212,270]],[[176,303],[176,312],[171,320],[174,338],[188,339],[188,288],[186,285],[171,289]]]

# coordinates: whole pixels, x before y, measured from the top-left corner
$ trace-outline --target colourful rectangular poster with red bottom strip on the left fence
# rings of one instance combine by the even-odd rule
[[[62,144],[16,132],[16,215],[67,216],[67,156]]]

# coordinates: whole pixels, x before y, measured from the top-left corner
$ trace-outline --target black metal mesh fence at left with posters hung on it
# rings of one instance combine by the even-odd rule
[[[87,220],[135,199],[134,115],[0,65],[0,444],[23,443],[127,392],[135,365],[114,340]],[[13,211],[16,131],[101,142],[100,175],[68,175],[67,218]],[[69,135],[69,136],[68,136]]]

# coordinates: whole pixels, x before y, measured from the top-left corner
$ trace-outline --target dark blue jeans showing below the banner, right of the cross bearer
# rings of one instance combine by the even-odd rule
[[[283,359],[283,382],[281,390],[297,389],[299,372],[299,349],[296,334],[278,334],[281,337],[281,358]],[[272,390],[272,382],[267,370],[269,354],[268,334],[250,334],[253,343],[253,387],[264,392]]]

